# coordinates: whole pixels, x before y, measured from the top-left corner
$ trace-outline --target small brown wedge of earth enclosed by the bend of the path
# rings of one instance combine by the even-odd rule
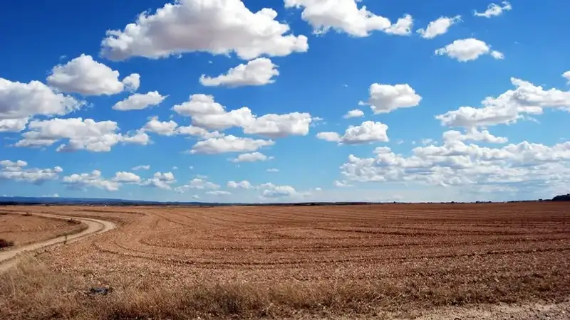
[[[78,233],[86,228],[81,223],[24,215],[19,210],[0,209],[0,239],[14,241],[14,247],[41,242],[64,234]]]

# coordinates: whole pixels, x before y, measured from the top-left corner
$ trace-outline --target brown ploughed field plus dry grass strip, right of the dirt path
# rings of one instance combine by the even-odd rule
[[[0,275],[0,319],[569,319],[569,208],[25,208],[118,228]]]

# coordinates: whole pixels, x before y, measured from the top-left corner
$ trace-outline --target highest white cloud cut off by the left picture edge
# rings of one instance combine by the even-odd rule
[[[0,78],[0,132],[19,132],[30,117],[64,115],[85,102],[54,92],[39,81],[12,82]]]

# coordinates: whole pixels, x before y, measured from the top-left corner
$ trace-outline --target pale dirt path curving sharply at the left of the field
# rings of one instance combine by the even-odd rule
[[[112,223],[110,221],[93,219],[93,218],[72,217],[72,216],[67,216],[67,215],[53,215],[53,214],[48,214],[48,213],[36,213],[34,215],[38,215],[40,217],[46,217],[46,218],[58,218],[58,219],[63,219],[63,220],[68,220],[68,219],[79,220],[82,223],[85,223],[87,225],[87,229],[81,231],[81,233],[68,235],[67,240],[66,240],[65,236],[61,236],[58,238],[53,238],[53,239],[42,241],[42,242],[32,243],[31,245],[25,245],[24,247],[18,247],[14,250],[0,251],[0,273],[4,272],[6,270],[9,270],[11,267],[16,265],[18,260],[15,258],[23,252],[35,251],[35,250],[41,249],[43,247],[48,247],[50,245],[56,245],[56,244],[64,242],[64,241],[75,242],[77,240],[80,240],[81,238],[88,236],[88,235],[105,233],[108,230],[112,230],[117,226],[117,225],[115,225],[115,223]]]

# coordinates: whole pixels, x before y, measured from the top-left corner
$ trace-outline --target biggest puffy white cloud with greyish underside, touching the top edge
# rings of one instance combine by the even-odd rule
[[[289,33],[277,13],[249,11],[241,0],[179,0],[154,14],[143,12],[123,31],[107,31],[101,54],[110,60],[163,58],[195,51],[235,52],[240,58],[283,56],[309,49],[306,36]]]

